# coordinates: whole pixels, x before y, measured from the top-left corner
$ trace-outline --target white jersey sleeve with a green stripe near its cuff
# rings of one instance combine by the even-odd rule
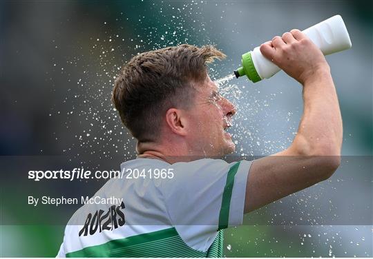
[[[161,191],[171,223],[189,247],[207,251],[220,229],[242,224],[251,162],[175,163]]]

